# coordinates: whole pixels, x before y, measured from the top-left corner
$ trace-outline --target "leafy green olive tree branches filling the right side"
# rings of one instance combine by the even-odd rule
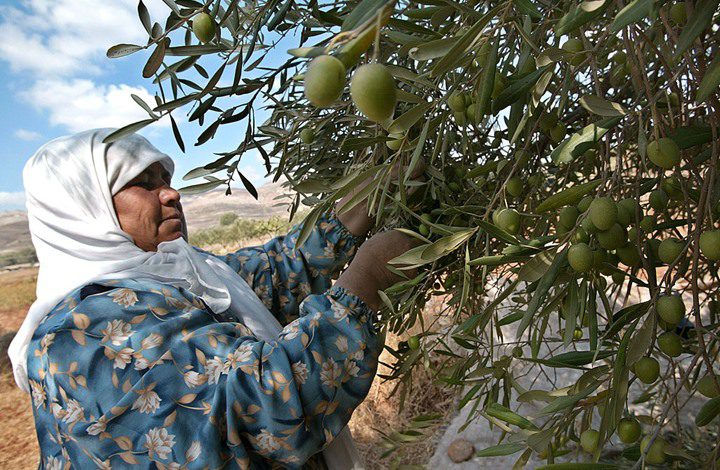
[[[465,391],[460,404],[472,406],[470,419],[483,416],[506,432],[483,455],[520,452],[518,466],[533,454],[552,464],[590,428],[600,445],[586,458],[597,462],[637,404],[628,403],[631,386],[645,389],[636,402],[656,406],[639,416],[651,439],[679,416],[681,392],[694,393],[719,354],[717,250],[699,245],[720,216],[718,0],[165,3],[173,13],[164,28],[140,9],[147,45],[108,51],[152,49],[143,75],[160,86],[154,107],[141,104],[150,118],[110,139],[172,119],[188,104],[190,121],[209,122],[196,145],[244,121],[237,148],[186,175],[204,178],[186,191],[229,188],[243,154],[256,149],[275,180],[285,176],[298,191],[292,212],[311,208],[309,223],[372,177],[348,207],[367,198],[378,230],[401,227],[424,242],[392,263],[421,270],[385,290],[387,327],[406,331],[433,295],[449,296],[454,322],[449,335],[422,325],[420,349],[397,352],[386,378],[406,382],[427,350],[442,353],[440,380]],[[219,26],[207,44],[198,44],[189,25],[202,10]],[[171,44],[175,32],[184,32],[182,45]],[[289,59],[265,65],[273,47],[266,39],[291,33],[299,43]],[[383,64],[398,88],[392,118],[366,119],[348,87],[328,107],[310,105],[303,74],[324,54],[350,75],[359,65]],[[203,55],[219,56],[220,67],[206,71]],[[176,56],[183,58],[165,62]],[[264,73],[248,77],[252,71]],[[181,78],[184,72],[196,72],[201,83]],[[162,87],[168,81],[172,96]],[[260,100],[272,115],[258,125]],[[311,144],[299,139],[305,128],[314,131]],[[420,159],[426,179],[408,181]],[[399,185],[390,183],[397,162],[407,166]],[[227,177],[211,176],[220,171]],[[414,199],[411,185],[420,189]],[[598,196],[604,202],[591,219]],[[565,206],[577,206],[570,223],[556,220]],[[520,214],[517,231],[514,220],[499,223],[514,217],[504,208]],[[657,247],[669,237],[682,250],[665,265]],[[592,248],[592,269],[568,266],[573,243]],[[632,303],[633,291],[649,300]],[[691,303],[679,325],[655,312],[657,298],[671,292]],[[680,358],[656,346],[662,329],[681,335]],[[648,355],[663,366],[645,386],[631,369]],[[578,379],[528,390],[514,375],[517,364],[548,378],[575,371]],[[540,412],[526,416],[528,403]],[[680,448],[669,444],[667,459],[707,466],[718,457],[717,450],[691,456]]]

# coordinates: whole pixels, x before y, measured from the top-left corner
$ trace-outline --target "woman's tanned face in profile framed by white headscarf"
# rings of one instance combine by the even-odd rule
[[[120,228],[145,251],[183,237],[187,225],[180,194],[170,187],[170,173],[155,162],[113,196]]]

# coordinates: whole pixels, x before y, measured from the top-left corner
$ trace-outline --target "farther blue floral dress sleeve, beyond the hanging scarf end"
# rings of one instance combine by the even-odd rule
[[[295,250],[301,229],[299,223],[287,235],[262,245],[213,255],[247,281],[281,325],[298,317],[300,303],[307,295],[330,287],[364,241],[340,222],[334,207],[318,219],[308,239]]]

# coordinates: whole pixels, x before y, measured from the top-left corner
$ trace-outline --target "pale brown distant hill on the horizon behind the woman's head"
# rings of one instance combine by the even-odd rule
[[[225,189],[208,191],[193,196],[183,196],[183,210],[188,231],[218,225],[220,216],[234,212],[240,218],[267,219],[275,215],[289,216],[293,193],[282,187],[284,180],[257,188],[255,200],[244,188],[232,188],[225,196]],[[0,211],[0,255],[32,248],[27,212]]]

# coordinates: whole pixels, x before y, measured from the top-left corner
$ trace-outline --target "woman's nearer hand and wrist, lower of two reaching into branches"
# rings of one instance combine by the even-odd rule
[[[350,266],[340,275],[335,285],[345,287],[360,297],[368,307],[378,311],[382,301],[377,291],[387,289],[403,279],[387,269],[387,262],[421,243],[420,240],[396,230],[378,233],[360,246]],[[416,268],[403,272],[410,278],[417,276]]]

